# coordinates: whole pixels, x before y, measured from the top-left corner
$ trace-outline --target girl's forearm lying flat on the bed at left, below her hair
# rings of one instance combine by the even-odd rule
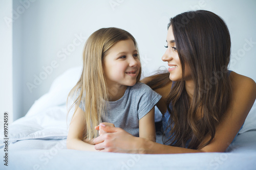
[[[67,148],[80,151],[96,151],[94,144],[86,143],[80,139],[68,139]]]

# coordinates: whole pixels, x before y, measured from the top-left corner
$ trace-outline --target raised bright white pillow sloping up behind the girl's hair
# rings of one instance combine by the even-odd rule
[[[53,81],[49,92],[34,102],[26,116],[37,114],[53,106],[66,104],[68,94],[79,80],[81,71],[81,66],[73,67],[58,76]]]

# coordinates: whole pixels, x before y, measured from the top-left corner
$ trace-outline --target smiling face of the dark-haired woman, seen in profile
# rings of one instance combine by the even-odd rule
[[[167,50],[165,51],[162,60],[168,62],[168,71],[170,72],[169,79],[172,81],[181,81],[182,68],[180,58],[176,49],[176,43],[173,34],[173,27],[170,26],[167,33]],[[191,79],[190,67],[185,63],[185,80]]]

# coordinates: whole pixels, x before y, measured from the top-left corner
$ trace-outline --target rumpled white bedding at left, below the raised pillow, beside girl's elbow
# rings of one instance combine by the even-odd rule
[[[62,105],[19,118],[8,129],[9,142],[26,139],[65,139],[68,134],[66,117],[66,105]],[[4,138],[2,129],[0,140]]]

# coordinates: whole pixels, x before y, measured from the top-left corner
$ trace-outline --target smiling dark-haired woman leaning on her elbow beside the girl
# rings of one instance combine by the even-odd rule
[[[162,95],[165,144],[100,125],[95,138],[103,152],[171,154],[224,152],[243,126],[256,98],[255,82],[227,70],[230,35],[224,21],[209,11],[190,11],[170,19],[168,73],[143,80]]]

